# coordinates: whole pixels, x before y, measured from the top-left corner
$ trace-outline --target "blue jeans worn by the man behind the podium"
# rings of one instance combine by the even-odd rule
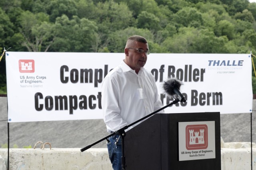
[[[113,135],[109,137],[110,141],[107,143],[108,155],[112,163],[113,170],[122,170],[122,137],[120,135]],[[116,143],[117,141],[117,143]]]

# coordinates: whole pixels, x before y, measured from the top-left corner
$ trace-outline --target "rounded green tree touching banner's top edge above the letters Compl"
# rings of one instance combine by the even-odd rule
[[[92,52],[92,44],[95,44],[97,37],[97,26],[86,18],[73,16],[69,20],[63,15],[56,18],[53,34],[55,38],[50,51]]]

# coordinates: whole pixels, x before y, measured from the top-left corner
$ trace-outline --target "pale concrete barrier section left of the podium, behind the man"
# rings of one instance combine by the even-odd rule
[[[7,167],[7,149],[0,149]],[[10,149],[9,170],[111,170],[107,149]],[[1,167],[1,163],[0,163]],[[5,170],[5,169],[3,169]]]

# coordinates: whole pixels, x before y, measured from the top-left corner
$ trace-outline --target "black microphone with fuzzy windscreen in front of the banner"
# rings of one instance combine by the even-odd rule
[[[186,99],[184,98],[183,94],[180,92],[181,85],[183,85],[183,83],[178,78],[168,78],[168,80],[164,81],[163,83],[163,89],[167,95],[172,96],[174,98],[174,94],[176,94],[180,102],[185,103]]]

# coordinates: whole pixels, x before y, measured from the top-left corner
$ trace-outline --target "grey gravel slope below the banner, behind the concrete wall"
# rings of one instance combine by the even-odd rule
[[[0,120],[8,119],[6,97],[0,97],[0,108]],[[253,110],[256,110],[256,100],[253,100]],[[255,113],[252,111],[252,142],[256,143]],[[224,142],[250,142],[250,127],[250,113],[220,115]],[[0,144],[4,147],[8,143],[7,121],[0,121],[0,129]],[[107,135],[103,119],[9,123],[10,148],[17,145],[19,148],[34,147],[38,141],[50,142],[52,148],[83,148]],[[106,148],[106,141],[93,148]]]

